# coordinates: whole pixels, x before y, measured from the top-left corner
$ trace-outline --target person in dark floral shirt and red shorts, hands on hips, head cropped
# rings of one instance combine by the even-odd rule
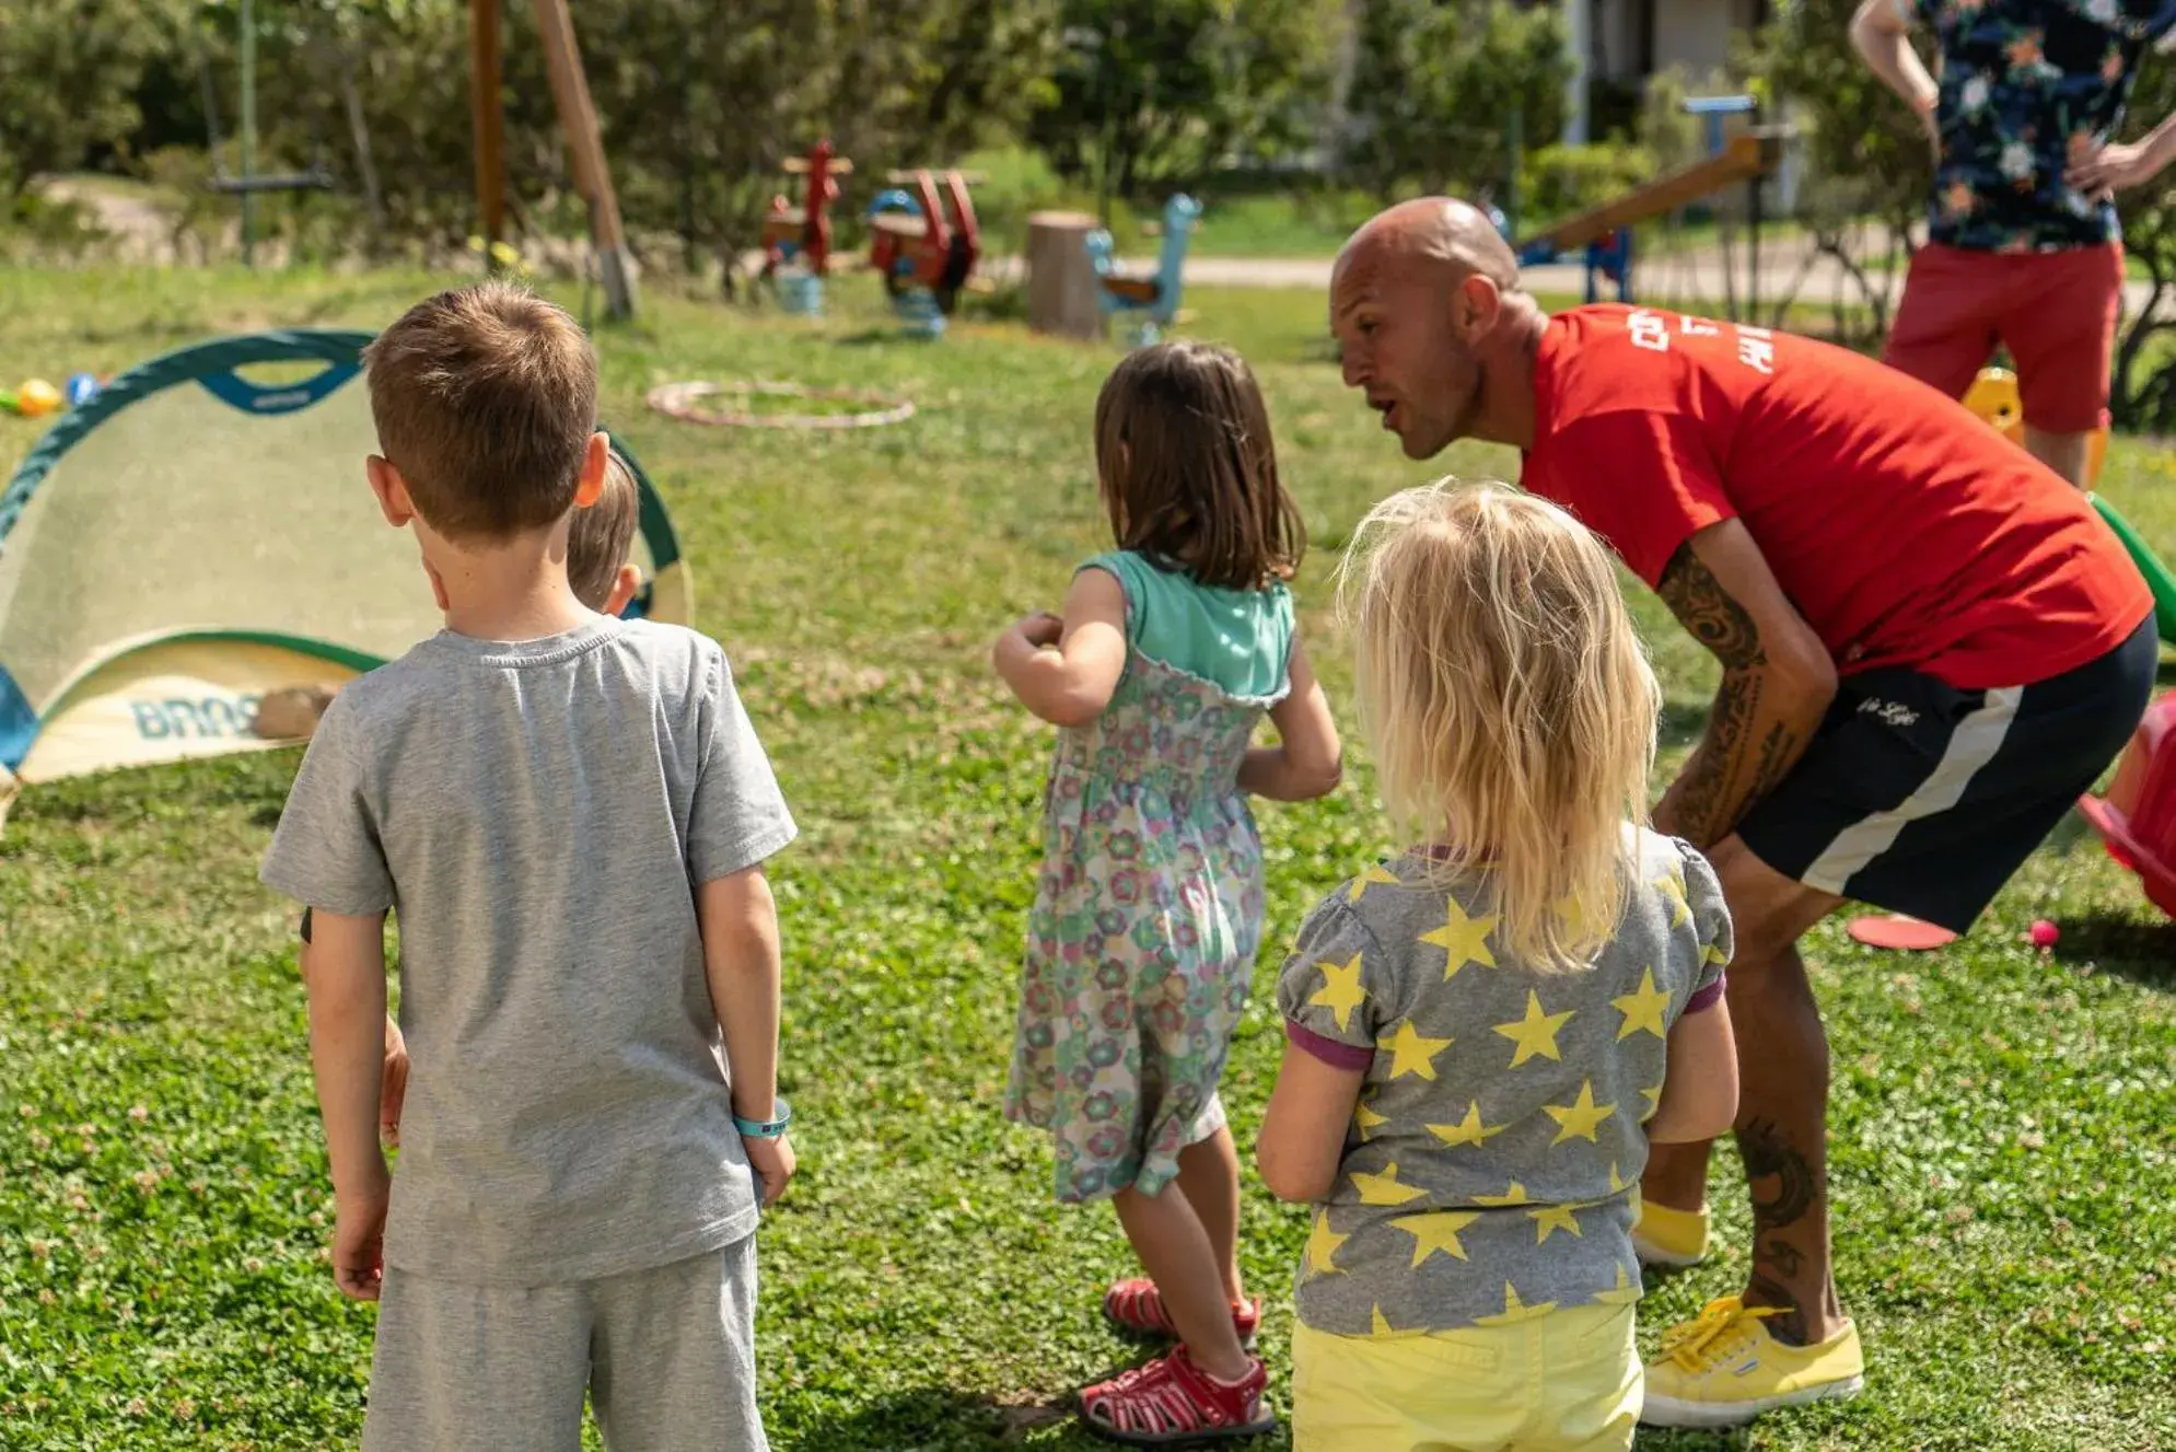
[[[1906,41],[1913,22],[1934,33],[1939,83]],[[2111,137],[2146,46],[2172,26],[2176,0],[1865,0],[1852,17],[1934,148],[1928,239],[1884,361],[1961,398],[2002,344],[2026,446],[2080,488],[2122,311],[2115,192],[2176,159],[2176,118]]]

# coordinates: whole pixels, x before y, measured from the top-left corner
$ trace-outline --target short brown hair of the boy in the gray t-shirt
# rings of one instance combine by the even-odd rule
[[[379,448],[446,538],[503,540],[574,503],[596,431],[596,353],[514,283],[418,303],[363,350]]]

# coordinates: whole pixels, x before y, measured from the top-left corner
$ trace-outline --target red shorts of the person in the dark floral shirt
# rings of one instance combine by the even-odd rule
[[[2109,422],[2109,357],[2124,303],[2124,244],[1982,253],[1928,242],[1911,259],[1882,361],[1963,398],[1995,344],[2017,364],[2026,424]]]

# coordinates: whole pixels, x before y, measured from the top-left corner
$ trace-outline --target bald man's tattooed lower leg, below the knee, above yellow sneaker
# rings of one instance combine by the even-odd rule
[[[1795,1345],[1843,1317],[1828,1260],[1828,1036],[1797,947],[1730,973],[1739,1041],[1739,1156],[1754,1202],[1747,1306]]]

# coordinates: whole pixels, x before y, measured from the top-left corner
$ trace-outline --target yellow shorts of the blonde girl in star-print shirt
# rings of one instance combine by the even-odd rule
[[[1414,1337],[1293,1328],[1293,1452],[1602,1452],[1641,1411],[1632,1306]]]

